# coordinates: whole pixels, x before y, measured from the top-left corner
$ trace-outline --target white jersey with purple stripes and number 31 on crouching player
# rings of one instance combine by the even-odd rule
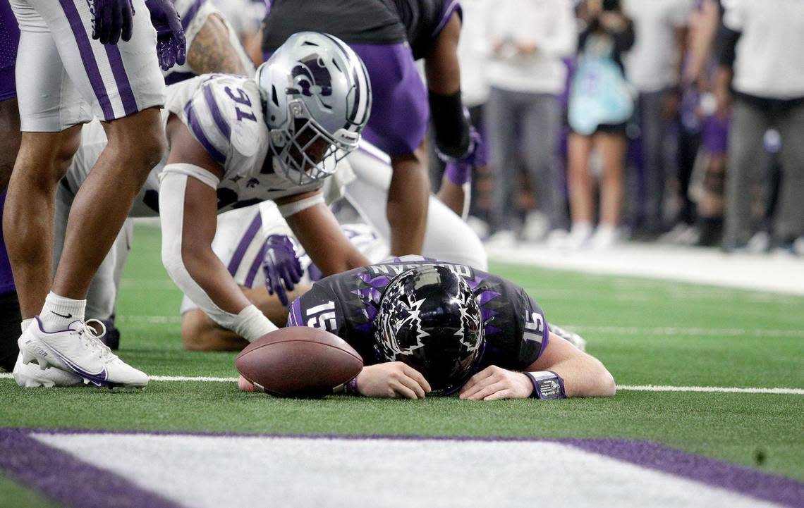
[[[251,78],[207,74],[174,84],[165,108],[176,115],[211,158],[224,168],[218,211],[317,190],[277,170],[269,154],[260,88]]]

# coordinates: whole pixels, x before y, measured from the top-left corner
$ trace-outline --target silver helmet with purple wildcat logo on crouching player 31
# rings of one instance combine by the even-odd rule
[[[274,165],[299,185],[326,178],[357,148],[371,113],[368,73],[332,35],[293,34],[260,65],[256,82]]]

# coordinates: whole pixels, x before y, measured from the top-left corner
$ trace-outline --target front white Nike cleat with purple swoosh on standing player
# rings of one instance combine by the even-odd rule
[[[100,328],[96,332],[90,323]],[[129,366],[100,342],[106,327],[96,319],[74,321],[67,330],[48,333],[35,317],[17,341],[23,364],[35,361],[39,369],[57,367],[98,387],[145,387],[148,376]]]

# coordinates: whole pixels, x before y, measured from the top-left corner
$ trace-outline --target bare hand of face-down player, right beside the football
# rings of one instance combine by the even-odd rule
[[[430,384],[419,371],[402,362],[363,367],[357,375],[357,391],[366,397],[424,399]]]

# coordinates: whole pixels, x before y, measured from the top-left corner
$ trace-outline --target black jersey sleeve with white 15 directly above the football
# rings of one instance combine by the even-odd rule
[[[290,304],[287,326],[320,328],[345,338],[346,319],[338,296],[326,285],[314,284],[310,291]]]

